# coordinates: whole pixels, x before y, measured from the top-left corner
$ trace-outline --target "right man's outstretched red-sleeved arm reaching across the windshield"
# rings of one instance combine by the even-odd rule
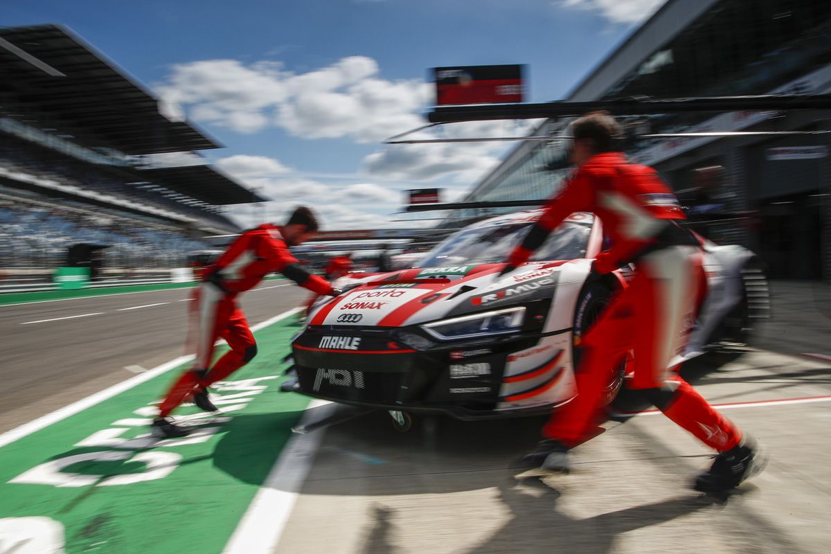
[[[569,179],[565,189],[553,199],[548,200],[543,215],[525,235],[522,244],[511,252],[508,258],[509,266],[518,267],[528,262],[531,254],[543,245],[548,235],[560,223],[563,223],[563,219],[568,218],[574,212],[591,211],[594,199],[591,180],[592,177],[589,174],[578,169],[577,174]]]

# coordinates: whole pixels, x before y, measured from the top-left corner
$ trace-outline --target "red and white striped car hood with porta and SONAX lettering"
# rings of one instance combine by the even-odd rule
[[[500,277],[504,264],[488,263],[344,277],[336,286],[347,292],[320,299],[307,321],[312,326],[398,327],[498,309],[550,298],[558,283],[583,280],[589,266],[588,260],[533,262]]]

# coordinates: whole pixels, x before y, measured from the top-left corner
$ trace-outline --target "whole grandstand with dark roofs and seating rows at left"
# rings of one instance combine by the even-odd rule
[[[68,28],[0,39],[0,268],[47,273],[77,243],[108,247],[106,267],[180,267],[238,231],[225,205],[264,200],[207,164],[155,167],[219,145]]]

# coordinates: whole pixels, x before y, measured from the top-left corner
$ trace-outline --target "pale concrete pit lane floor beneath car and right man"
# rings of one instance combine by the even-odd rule
[[[714,404],[831,395],[828,362],[770,351],[707,355],[685,375]],[[569,475],[516,467],[543,419],[400,434],[369,414],[325,431],[274,552],[829,552],[827,400],[723,409],[771,456],[725,499],[690,489],[711,453],[662,414],[607,422]]]

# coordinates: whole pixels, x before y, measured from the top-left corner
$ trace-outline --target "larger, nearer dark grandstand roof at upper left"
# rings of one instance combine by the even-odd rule
[[[160,114],[155,96],[58,25],[0,27],[0,115],[12,114],[125,154],[220,146]]]

